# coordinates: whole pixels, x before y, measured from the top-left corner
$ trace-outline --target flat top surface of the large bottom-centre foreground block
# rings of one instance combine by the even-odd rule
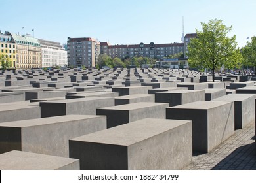
[[[129,146],[186,123],[191,123],[191,121],[144,118],[71,140]]]

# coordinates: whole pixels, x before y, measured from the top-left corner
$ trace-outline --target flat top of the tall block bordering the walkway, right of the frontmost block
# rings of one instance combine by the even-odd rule
[[[221,105],[226,105],[228,103],[232,103],[232,102],[231,101],[196,101],[196,102],[186,103],[186,104],[183,104],[183,105],[177,105],[177,106],[168,107],[168,108],[207,110],[207,109],[219,107]]]

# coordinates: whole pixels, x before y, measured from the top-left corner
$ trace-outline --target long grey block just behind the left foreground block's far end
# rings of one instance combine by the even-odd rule
[[[114,98],[88,97],[40,102],[41,118],[68,114],[95,115],[96,108],[114,106]]]

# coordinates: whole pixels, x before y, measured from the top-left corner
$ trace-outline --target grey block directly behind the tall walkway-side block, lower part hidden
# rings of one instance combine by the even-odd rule
[[[169,103],[169,107],[204,100],[204,90],[170,90],[155,93],[155,102]]]

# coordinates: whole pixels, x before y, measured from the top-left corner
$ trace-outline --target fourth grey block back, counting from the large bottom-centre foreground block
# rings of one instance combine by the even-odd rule
[[[152,86],[126,86],[112,88],[112,92],[118,92],[119,96],[134,95],[134,94],[148,94],[148,90],[152,89]]]

